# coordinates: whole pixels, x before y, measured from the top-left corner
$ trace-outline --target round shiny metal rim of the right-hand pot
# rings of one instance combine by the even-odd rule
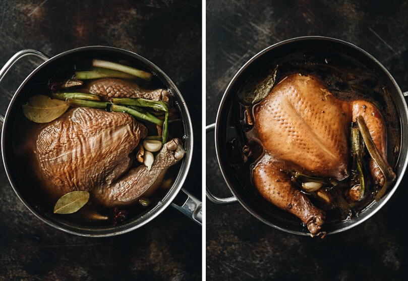
[[[408,114],[408,107],[406,104],[406,101],[404,99],[404,95],[403,92],[401,91],[400,87],[398,86],[398,84],[396,83],[395,79],[393,78],[393,76],[389,73],[389,71],[377,60],[375,59],[371,54],[369,54],[367,51],[365,51],[364,49],[358,47],[357,45],[341,40],[341,39],[336,39],[336,38],[331,38],[331,37],[325,37],[325,36],[301,36],[301,37],[294,37],[294,38],[290,38],[290,39],[286,39],[280,42],[277,42],[275,44],[272,44],[266,48],[264,48],[263,50],[259,51],[257,54],[255,54],[251,59],[249,59],[240,69],[239,71],[234,75],[234,77],[231,79],[231,81],[228,83],[228,86],[226,87],[223,95],[222,95],[222,99],[220,101],[218,110],[217,110],[217,116],[216,116],[216,121],[215,121],[215,152],[216,152],[216,156],[217,156],[217,161],[218,161],[218,165],[220,167],[220,171],[222,174],[222,177],[224,178],[224,181],[226,182],[228,189],[230,190],[230,192],[232,193],[232,195],[234,195],[234,197],[240,202],[240,204],[247,210],[249,211],[253,216],[255,216],[256,218],[258,218],[259,220],[261,220],[262,222],[268,224],[269,226],[287,232],[287,233],[291,233],[291,234],[297,234],[297,235],[305,235],[305,236],[309,236],[310,233],[309,232],[300,232],[300,231],[293,231],[290,230],[288,228],[282,228],[279,226],[276,226],[276,224],[270,222],[269,220],[263,218],[260,214],[258,214],[256,211],[254,211],[248,204],[246,204],[245,200],[237,193],[235,187],[234,187],[234,183],[232,182],[232,180],[229,179],[228,177],[228,167],[225,167],[226,164],[222,163],[222,159],[221,159],[221,154],[224,153],[223,152],[223,147],[222,144],[220,144],[220,130],[222,130],[223,128],[220,128],[220,123],[221,120],[223,119],[223,116],[226,114],[224,111],[227,111],[227,109],[225,109],[224,107],[226,106],[225,104],[229,101],[229,98],[231,95],[234,95],[234,92],[231,92],[231,89],[234,87],[234,85],[236,83],[238,83],[238,81],[241,79],[241,75],[243,75],[243,72],[254,62],[256,62],[258,59],[260,59],[264,54],[268,53],[269,51],[275,49],[276,47],[282,46],[282,45],[286,45],[286,44],[290,44],[293,42],[299,42],[299,41],[312,41],[312,40],[324,40],[327,42],[334,42],[336,44],[340,44],[340,45],[345,45],[347,47],[351,47],[354,48],[355,50],[359,51],[360,53],[364,54],[367,58],[369,58],[374,64],[376,64],[381,71],[383,71],[383,73],[381,73],[381,76],[387,75],[388,79],[391,81],[393,87],[397,90],[398,93],[398,97],[403,101],[402,104],[400,104],[400,106],[403,107],[403,113],[405,113],[405,115]],[[398,117],[401,117],[400,115]],[[403,120],[401,122],[401,140],[400,140],[400,144],[401,144],[401,149],[399,152],[399,156],[397,157],[397,161],[396,163],[398,163],[398,165],[396,166],[401,166],[401,173],[397,176],[393,186],[387,191],[387,193],[377,202],[373,202],[371,203],[368,207],[365,208],[364,213],[365,216],[361,219],[358,219],[357,221],[351,223],[351,224],[346,224],[345,227],[336,229],[334,231],[331,232],[327,232],[327,234],[335,234],[335,233],[340,233],[343,231],[346,231],[348,229],[351,229],[353,227],[358,226],[360,223],[366,221],[367,219],[369,219],[370,217],[372,217],[378,210],[380,210],[383,205],[385,205],[385,203],[390,199],[390,197],[394,194],[394,192],[396,191],[397,187],[399,186],[400,182],[402,181],[403,175],[405,173],[406,167],[408,165],[408,157],[406,157],[406,149],[405,146],[403,146],[403,142],[406,141],[404,139],[404,131],[408,131],[408,128],[406,128],[408,126],[408,124],[406,124],[406,120],[408,120],[408,118],[405,118],[405,120]],[[405,121],[405,122],[404,122]],[[405,130],[404,130],[405,127]],[[403,163],[399,163],[401,160],[401,155],[405,156]],[[374,204],[375,203],[375,204]],[[270,203],[272,204],[272,203]]]

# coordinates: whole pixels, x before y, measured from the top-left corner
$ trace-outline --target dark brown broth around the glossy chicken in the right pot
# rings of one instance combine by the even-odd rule
[[[286,55],[283,58],[266,62],[257,68],[243,82],[242,87],[237,92],[231,104],[228,123],[230,128],[226,132],[226,155],[238,182],[246,189],[245,194],[252,194],[252,200],[261,202],[266,206],[252,184],[252,170],[257,161],[262,157],[264,149],[258,139],[253,126],[248,125],[246,113],[248,110],[252,114],[252,104],[245,104],[243,96],[251,94],[257,85],[264,83],[265,78],[277,67],[276,82],[287,75],[301,73],[313,75],[320,78],[334,96],[343,100],[365,99],[374,103],[384,116],[387,130],[387,157],[391,166],[396,164],[399,155],[400,126],[397,112],[393,106],[391,94],[387,87],[372,70],[368,69],[356,60],[337,52],[313,52],[301,51]],[[254,120],[252,115],[252,120]],[[351,166],[351,165],[349,165]],[[369,179],[368,179],[369,180]],[[343,183],[328,192],[337,198],[335,204],[326,206],[316,200],[313,194],[308,195],[311,201],[319,208],[326,211],[327,221],[336,222],[349,219],[374,202],[374,195],[377,187],[369,180],[366,187],[366,196],[360,202],[345,204],[344,193],[350,187],[351,179],[346,179]],[[255,195],[253,195],[255,193]],[[270,203],[269,203],[270,204]],[[346,205],[344,208],[344,205]],[[347,211],[347,208],[348,211]],[[272,211],[273,212],[273,211]],[[285,218],[292,215],[277,214],[277,217],[293,221],[293,218]]]

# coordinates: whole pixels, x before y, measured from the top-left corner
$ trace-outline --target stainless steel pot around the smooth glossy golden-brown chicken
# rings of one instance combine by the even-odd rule
[[[339,59],[342,60],[340,65],[344,66],[347,71],[358,72],[353,70],[353,66],[359,64],[367,71],[372,72],[385,86],[386,91],[375,93],[375,95],[377,95],[376,98],[380,99],[379,102],[383,110],[389,112],[391,116],[395,116],[395,118],[389,117],[395,120],[388,120],[389,123],[387,123],[392,123],[396,128],[396,131],[393,132],[397,132],[395,135],[388,135],[388,161],[392,163],[397,179],[381,200],[373,202],[352,219],[328,222],[325,224],[324,230],[327,234],[333,234],[351,229],[370,218],[384,206],[400,184],[408,161],[406,155],[408,110],[404,99],[408,92],[402,93],[384,66],[363,49],[342,40],[320,36],[293,38],[269,46],[250,59],[232,78],[219,105],[216,122],[207,126],[206,131],[209,133],[215,130],[217,160],[222,176],[233,196],[228,198],[216,196],[214,195],[214,187],[207,186],[206,195],[210,201],[217,204],[239,202],[252,215],[271,227],[298,235],[310,234],[298,218],[272,206],[257,194],[255,188],[250,185],[249,171],[246,177],[237,176],[237,173],[234,172],[237,164],[228,155],[228,151],[230,151],[228,143],[234,137],[239,138],[239,133],[237,133],[238,125],[230,119],[231,106],[236,102],[237,93],[252,79],[251,77],[255,73],[262,74],[265,73],[265,70],[273,69],[276,65],[288,65],[295,62],[298,64],[297,67],[299,67],[299,63],[301,65],[304,63],[304,66],[320,64],[330,67],[330,60],[337,60],[339,63],[341,62]],[[351,60],[353,60],[352,64]],[[353,75],[360,77],[361,73],[353,73]]]

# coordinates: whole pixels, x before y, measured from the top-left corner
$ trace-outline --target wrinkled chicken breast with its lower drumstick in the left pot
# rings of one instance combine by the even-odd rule
[[[86,190],[106,206],[133,203],[184,156],[181,141],[174,139],[163,145],[150,171],[143,165],[129,170],[146,134],[128,114],[77,107],[38,133],[37,166],[44,184],[59,196]]]

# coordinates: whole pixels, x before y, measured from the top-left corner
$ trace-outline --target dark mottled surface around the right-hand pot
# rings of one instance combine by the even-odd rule
[[[284,39],[322,35],[371,53],[408,91],[405,1],[206,2],[206,124],[215,122],[235,73],[260,50]],[[228,196],[206,137],[206,183]],[[403,148],[406,151],[406,148]],[[408,178],[390,201],[358,227],[312,239],[260,222],[240,204],[206,200],[208,280],[404,280],[408,273]]]

